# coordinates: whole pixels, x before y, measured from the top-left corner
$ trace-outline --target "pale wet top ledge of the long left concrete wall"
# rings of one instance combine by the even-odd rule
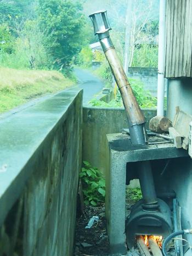
[[[77,96],[82,105],[82,91],[71,88],[0,121],[0,226],[36,171],[33,162],[41,148],[46,148]]]

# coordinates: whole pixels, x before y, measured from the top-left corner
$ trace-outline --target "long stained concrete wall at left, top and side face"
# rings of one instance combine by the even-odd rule
[[[0,126],[0,255],[73,255],[82,91],[56,94]]]

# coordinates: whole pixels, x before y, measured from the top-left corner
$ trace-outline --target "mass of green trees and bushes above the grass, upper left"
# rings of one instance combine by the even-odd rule
[[[82,5],[72,0],[2,0],[0,13],[0,66],[66,74],[87,44]]]

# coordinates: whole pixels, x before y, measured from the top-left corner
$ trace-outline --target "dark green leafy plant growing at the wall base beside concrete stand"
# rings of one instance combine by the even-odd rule
[[[105,180],[101,171],[93,168],[91,164],[83,161],[84,167],[80,172],[83,185],[84,203],[86,205],[97,205],[105,198]]]

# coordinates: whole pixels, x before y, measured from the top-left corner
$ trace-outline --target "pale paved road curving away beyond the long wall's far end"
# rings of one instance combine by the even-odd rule
[[[87,70],[75,68],[74,73],[78,80],[77,86],[83,89],[83,105],[87,105],[103,89],[104,84]]]

